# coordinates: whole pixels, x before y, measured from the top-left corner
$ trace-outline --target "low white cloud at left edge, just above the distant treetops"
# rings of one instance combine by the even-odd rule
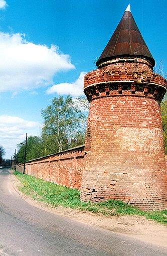
[[[40,123],[28,121],[18,116],[0,115],[0,145],[5,148],[5,158],[13,156],[17,144],[24,141],[28,136],[38,136]]]

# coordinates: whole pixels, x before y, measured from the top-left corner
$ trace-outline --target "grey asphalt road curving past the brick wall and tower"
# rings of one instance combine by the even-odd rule
[[[2,169],[0,255],[153,256],[167,250],[38,209],[18,195]]]

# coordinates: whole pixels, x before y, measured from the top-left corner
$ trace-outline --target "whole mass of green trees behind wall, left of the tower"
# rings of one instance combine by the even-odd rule
[[[51,105],[41,111],[44,118],[42,135],[30,136],[27,141],[26,161],[51,155],[84,144],[87,113],[72,97],[55,97]],[[17,161],[24,162],[25,144],[18,145]]]

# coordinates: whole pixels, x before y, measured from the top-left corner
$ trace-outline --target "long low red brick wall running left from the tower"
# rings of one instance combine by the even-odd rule
[[[80,189],[84,160],[84,146],[76,147],[55,155],[28,161],[26,174],[46,181]],[[23,164],[17,170],[23,173]]]

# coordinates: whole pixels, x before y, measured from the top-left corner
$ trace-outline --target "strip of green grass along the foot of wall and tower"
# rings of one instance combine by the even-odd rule
[[[110,216],[138,215],[167,224],[167,210],[145,212],[122,201],[111,199],[99,203],[81,202],[80,191],[77,189],[56,185],[19,172],[14,172],[14,174],[22,184],[19,188],[21,192],[38,201],[49,203],[54,207],[63,206]]]

